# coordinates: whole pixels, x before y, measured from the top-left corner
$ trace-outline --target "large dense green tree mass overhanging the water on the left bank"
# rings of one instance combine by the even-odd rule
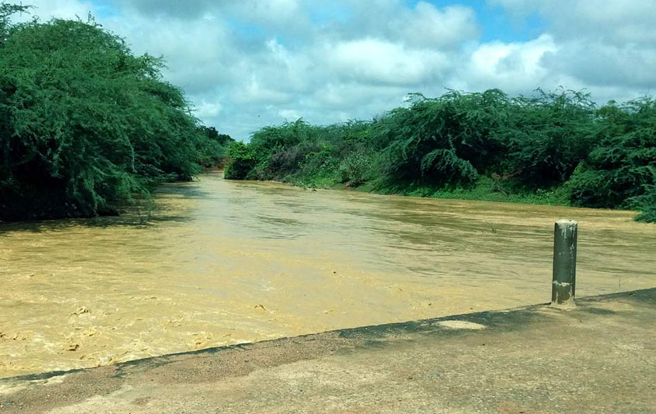
[[[182,91],[161,79],[163,64],[135,57],[93,19],[8,27],[0,46],[0,219],[108,213],[218,159],[222,147],[199,128]]]

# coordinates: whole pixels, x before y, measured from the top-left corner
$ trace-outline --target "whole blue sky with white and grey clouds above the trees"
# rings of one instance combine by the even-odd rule
[[[95,15],[137,54],[163,55],[205,124],[249,139],[303,117],[370,119],[408,92],[656,88],[655,0],[23,0]]]

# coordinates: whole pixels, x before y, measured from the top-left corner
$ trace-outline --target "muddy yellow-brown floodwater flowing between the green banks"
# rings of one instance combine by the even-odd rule
[[[635,213],[305,190],[202,175],[149,217],[0,225],[0,377],[656,286]]]

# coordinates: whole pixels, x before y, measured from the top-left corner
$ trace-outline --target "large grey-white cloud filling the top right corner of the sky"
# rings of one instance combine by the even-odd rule
[[[541,65],[593,99],[632,99],[656,88],[656,1],[492,0],[516,16],[538,13],[557,50]]]

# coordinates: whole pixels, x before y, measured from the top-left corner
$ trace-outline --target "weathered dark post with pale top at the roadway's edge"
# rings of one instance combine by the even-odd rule
[[[578,226],[579,224],[574,220],[560,220],[556,221],[554,228],[554,278],[551,305],[559,308],[575,306]]]

